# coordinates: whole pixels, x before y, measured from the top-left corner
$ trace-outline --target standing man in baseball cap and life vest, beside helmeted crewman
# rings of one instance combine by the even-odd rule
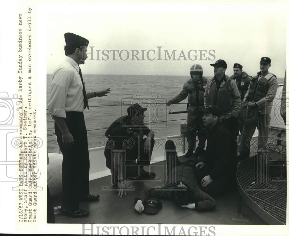
[[[214,77],[209,79],[204,94],[204,105],[217,106],[221,111],[220,121],[237,140],[237,117],[241,107],[241,96],[234,80],[225,75],[227,63],[219,59],[214,64]]]

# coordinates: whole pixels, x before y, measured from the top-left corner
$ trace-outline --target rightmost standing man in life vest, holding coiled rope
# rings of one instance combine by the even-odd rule
[[[269,125],[271,120],[271,110],[273,99],[278,89],[278,81],[274,74],[269,73],[271,67],[271,59],[262,57],[260,60],[260,72],[251,79],[248,91],[244,96],[244,102],[249,102],[249,109],[257,111],[255,122],[244,124],[241,143],[240,158],[248,158],[250,154],[251,138],[257,127],[259,131],[258,149],[266,148],[266,140],[268,139]]]

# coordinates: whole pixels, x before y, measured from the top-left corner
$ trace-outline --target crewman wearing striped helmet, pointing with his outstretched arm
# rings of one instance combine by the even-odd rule
[[[206,141],[206,131],[202,117],[204,116],[204,92],[205,85],[208,81],[203,76],[203,67],[199,64],[192,65],[190,68],[191,78],[184,83],[183,90],[179,95],[168,101],[167,105],[179,103],[188,97],[188,125],[187,125],[187,141],[188,152],[186,158],[193,155],[194,142],[196,141],[196,132],[198,131],[199,144],[195,151],[195,156],[204,154]]]

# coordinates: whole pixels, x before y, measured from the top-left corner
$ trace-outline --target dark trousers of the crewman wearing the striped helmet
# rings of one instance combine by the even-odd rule
[[[196,107],[188,107],[188,125],[187,125],[187,141],[188,148],[194,148],[196,140],[196,133],[198,131],[199,146],[205,147],[206,142],[206,129],[203,122],[203,111],[198,111]]]

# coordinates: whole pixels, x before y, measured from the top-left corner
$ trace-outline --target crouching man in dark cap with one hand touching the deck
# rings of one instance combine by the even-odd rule
[[[138,103],[131,105],[127,108],[128,116],[115,120],[105,132],[106,167],[112,173],[113,184],[118,185],[119,197],[126,195],[126,180],[155,177],[155,173],[144,170],[151,161],[155,136],[143,123],[146,110]]]

